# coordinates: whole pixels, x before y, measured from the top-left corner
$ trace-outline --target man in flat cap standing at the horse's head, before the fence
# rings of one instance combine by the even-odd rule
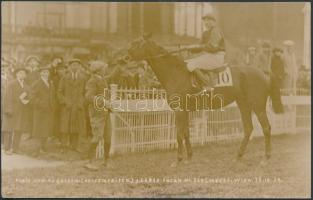
[[[108,123],[109,117],[106,110],[104,89],[108,87],[104,78],[104,70],[107,64],[100,61],[93,61],[90,65],[92,73],[86,84],[85,97],[89,104],[89,117],[92,128],[92,139],[89,147],[90,162],[85,166],[90,170],[98,170],[101,164],[106,165],[109,159],[111,146],[111,135]],[[96,148],[100,140],[104,140],[104,163],[95,159]]]

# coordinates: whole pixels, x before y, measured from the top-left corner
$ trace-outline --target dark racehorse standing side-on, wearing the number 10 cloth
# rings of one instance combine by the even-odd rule
[[[160,83],[167,92],[167,100],[172,97],[196,94],[200,89],[195,88],[190,79],[192,74],[187,70],[186,63],[179,57],[169,53],[164,48],[149,40],[149,36],[144,36],[131,43],[128,49],[131,60],[146,60],[158,77]],[[283,106],[279,87],[275,84],[275,77],[269,78],[257,68],[252,67],[231,67],[233,86],[225,88],[215,88],[215,94],[223,96],[224,106],[236,101],[242,118],[244,127],[244,138],[241,142],[237,158],[244,155],[250,135],[253,130],[252,112],[254,112],[262,126],[265,139],[265,160],[271,156],[271,126],[266,113],[266,102],[268,96],[272,99],[273,110],[275,113],[282,113]],[[172,99],[171,99],[172,98]],[[182,98],[181,107],[186,108],[187,100]],[[175,102],[177,104],[177,102]],[[220,108],[220,99],[207,101],[210,108]],[[177,109],[177,105],[169,102],[171,108],[175,107],[175,119],[177,128],[178,159],[173,163],[176,166],[183,160],[183,149],[187,150],[187,161],[192,157],[192,149],[188,128],[188,111],[195,110],[194,105],[191,109]]]

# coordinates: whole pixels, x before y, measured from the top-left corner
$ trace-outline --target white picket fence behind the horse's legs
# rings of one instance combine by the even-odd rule
[[[112,91],[111,91],[112,92]],[[120,90],[123,98],[131,96],[134,101],[142,96],[154,99],[155,94],[165,100],[164,91]],[[302,91],[302,94],[309,94]],[[150,95],[150,96],[149,96]],[[158,96],[158,95],[157,95]],[[114,97],[116,98],[116,96]],[[289,101],[284,97],[284,114],[274,114],[268,105],[268,116],[272,126],[272,134],[296,133],[311,131],[310,96],[293,96],[299,101]],[[305,101],[303,101],[305,99]],[[175,115],[170,110],[162,111],[130,111],[111,113],[112,146],[111,153],[147,152],[152,150],[176,148]],[[189,115],[190,137],[193,145],[205,145],[210,142],[231,141],[243,137],[243,128],[239,109],[232,104],[215,111],[197,111]],[[253,136],[262,136],[262,129],[253,116]],[[101,149],[101,148],[99,148]],[[98,156],[102,153],[99,150]]]

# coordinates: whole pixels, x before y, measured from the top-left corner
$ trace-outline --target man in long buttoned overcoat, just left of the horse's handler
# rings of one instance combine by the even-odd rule
[[[60,132],[62,152],[66,150],[69,137],[72,150],[78,151],[79,136],[86,134],[85,83],[86,77],[80,68],[78,59],[69,61],[68,72],[59,82],[57,96],[61,104]],[[79,151],[78,151],[79,152]]]

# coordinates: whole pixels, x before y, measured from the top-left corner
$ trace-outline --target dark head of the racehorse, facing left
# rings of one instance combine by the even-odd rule
[[[163,48],[149,40],[150,37],[151,34],[144,34],[130,44],[128,55],[131,60],[146,60],[164,53]]]

